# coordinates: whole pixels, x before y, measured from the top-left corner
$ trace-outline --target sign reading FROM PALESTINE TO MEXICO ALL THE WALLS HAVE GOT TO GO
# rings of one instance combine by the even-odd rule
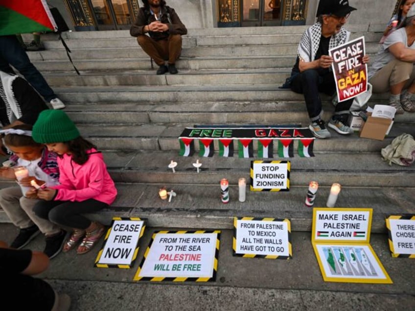
[[[292,258],[291,222],[274,218],[234,218],[235,256],[267,259]]]

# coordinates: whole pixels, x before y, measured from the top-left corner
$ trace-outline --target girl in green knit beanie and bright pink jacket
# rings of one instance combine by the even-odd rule
[[[37,191],[40,201],[34,212],[41,218],[73,228],[63,247],[67,252],[79,242],[78,254],[92,249],[105,227],[83,214],[97,212],[114,202],[116,189],[102,154],[79,134],[61,110],[45,110],[33,126],[33,139],[59,155],[60,185]]]

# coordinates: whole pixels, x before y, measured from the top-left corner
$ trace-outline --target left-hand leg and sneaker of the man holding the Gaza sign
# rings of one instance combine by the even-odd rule
[[[311,124],[310,131],[318,138],[329,138],[330,133],[322,120],[323,109],[319,94],[320,75],[317,70],[309,69],[299,73],[292,82],[291,89],[304,94],[305,105]]]

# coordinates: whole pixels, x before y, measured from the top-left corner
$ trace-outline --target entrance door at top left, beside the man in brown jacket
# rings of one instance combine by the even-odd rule
[[[130,29],[135,20],[131,0],[90,0],[98,30]]]

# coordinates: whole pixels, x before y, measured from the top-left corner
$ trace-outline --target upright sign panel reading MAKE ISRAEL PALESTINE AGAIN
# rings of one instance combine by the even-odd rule
[[[369,243],[371,208],[314,208],[313,213],[313,241]]]

